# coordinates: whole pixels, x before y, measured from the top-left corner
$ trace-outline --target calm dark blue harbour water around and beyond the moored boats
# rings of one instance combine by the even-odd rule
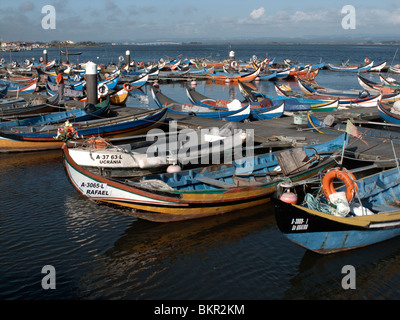
[[[368,56],[390,64],[397,48],[204,45],[76,50],[83,51],[81,61],[106,63],[117,61],[127,49],[133,59],[145,61],[178,54],[224,59],[234,50],[239,59],[268,52],[278,61],[339,63],[350,58],[361,63]],[[12,58],[38,58],[41,52],[12,53]],[[50,59],[52,55],[58,58],[56,50],[49,50]],[[9,58],[8,53],[3,56]],[[354,74],[322,71],[317,80],[334,88],[360,89]],[[269,82],[256,85],[273,93]],[[153,108],[148,89],[130,97],[128,104]],[[241,98],[232,85],[199,82],[197,89],[215,98]],[[187,102],[182,84],[163,85],[162,90]],[[283,238],[269,205],[171,224],[139,221],[78,195],[66,178],[60,151],[0,155],[0,189],[1,299],[400,298],[400,238],[348,253],[316,255]],[[56,270],[56,289],[41,286],[45,265]],[[345,265],[356,268],[355,290],[341,286]]]

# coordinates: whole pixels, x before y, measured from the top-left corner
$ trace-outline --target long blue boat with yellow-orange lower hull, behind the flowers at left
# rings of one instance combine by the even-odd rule
[[[76,141],[90,137],[123,138],[146,133],[160,126],[167,108],[147,111],[137,115],[88,120],[73,123]],[[61,129],[63,129],[61,127]],[[42,151],[61,148],[60,125],[23,126],[3,128],[0,131],[0,152]],[[71,143],[71,142],[69,142]],[[75,143],[75,142],[74,142]]]

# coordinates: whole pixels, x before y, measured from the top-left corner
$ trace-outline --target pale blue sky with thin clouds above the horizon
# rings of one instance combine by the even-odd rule
[[[43,29],[42,7],[56,11]],[[343,29],[343,6],[355,29]],[[379,8],[378,8],[379,5]],[[4,41],[400,40],[398,0],[1,0]]]

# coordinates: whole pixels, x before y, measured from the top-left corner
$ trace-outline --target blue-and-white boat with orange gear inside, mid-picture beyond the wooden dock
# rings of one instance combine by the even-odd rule
[[[230,103],[230,101],[227,100],[211,99],[197,92],[194,88],[189,87],[186,87],[186,95],[193,104],[199,106],[228,110],[227,105]],[[271,100],[269,101],[270,106],[263,106],[262,102],[250,102],[250,118],[252,120],[267,120],[281,117],[284,112],[285,102],[275,101],[274,103]],[[243,107],[247,104],[248,103],[242,102]]]

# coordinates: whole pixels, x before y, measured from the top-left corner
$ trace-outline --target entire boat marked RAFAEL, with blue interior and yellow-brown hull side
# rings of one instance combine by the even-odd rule
[[[312,147],[318,153],[332,151],[344,142],[342,136]],[[298,181],[315,176],[332,166],[333,161],[333,157],[316,160],[315,153],[303,147],[241,158],[230,164],[147,175],[135,181],[106,179],[83,169],[73,161],[66,145],[63,154],[66,174],[80,194],[139,219],[156,222],[201,218],[267,203],[283,179]],[[302,160],[290,168],[293,161],[289,166],[283,165],[289,157]],[[276,172],[278,165],[282,175]]]

